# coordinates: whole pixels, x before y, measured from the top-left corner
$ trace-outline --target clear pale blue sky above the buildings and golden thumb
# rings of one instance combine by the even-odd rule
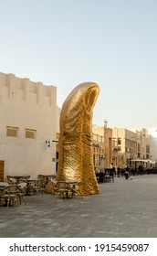
[[[157,125],[156,0],[0,0],[0,72],[58,88],[99,84],[93,123]]]

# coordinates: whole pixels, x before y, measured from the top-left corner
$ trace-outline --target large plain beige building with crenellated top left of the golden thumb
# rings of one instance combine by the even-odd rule
[[[56,172],[57,88],[0,73],[0,161],[4,176]],[[2,171],[1,171],[2,172]]]

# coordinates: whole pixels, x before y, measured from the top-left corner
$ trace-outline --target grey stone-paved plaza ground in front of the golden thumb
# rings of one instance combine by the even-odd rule
[[[116,177],[99,195],[26,197],[0,207],[2,238],[156,238],[157,175]]]

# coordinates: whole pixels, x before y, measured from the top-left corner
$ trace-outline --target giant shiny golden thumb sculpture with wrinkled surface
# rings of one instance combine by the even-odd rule
[[[81,83],[68,95],[60,113],[57,180],[80,179],[83,195],[99,193],[92,153],[92,111],[98,95],[96,83]]]

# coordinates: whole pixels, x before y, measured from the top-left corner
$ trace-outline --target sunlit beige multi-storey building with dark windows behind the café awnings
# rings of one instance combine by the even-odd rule
[[[115,148],[115,165],[124,168],[126,165],[144,165],[150,167],[150,135],[145,128],[112,129]]]

